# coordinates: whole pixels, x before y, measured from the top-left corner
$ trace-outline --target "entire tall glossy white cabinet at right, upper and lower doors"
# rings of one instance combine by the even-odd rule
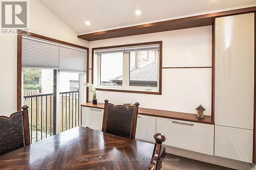
[[[215,20],[215,155],[252,162],[254,13]]]

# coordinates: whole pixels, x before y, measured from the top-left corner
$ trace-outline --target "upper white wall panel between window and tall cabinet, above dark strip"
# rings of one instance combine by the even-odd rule
[[[211,66],[211,26],[165,33],[163,67]]]

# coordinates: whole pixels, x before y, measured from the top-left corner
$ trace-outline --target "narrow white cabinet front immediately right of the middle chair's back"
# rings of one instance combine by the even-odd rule
[[[136,139],[155,142],[156,117],[138,115],[136,127]]]

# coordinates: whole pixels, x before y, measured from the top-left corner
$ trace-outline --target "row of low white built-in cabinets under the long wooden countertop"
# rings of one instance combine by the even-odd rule
[[[82,107],[82,126],[101,131],[103,109]],[[214,125],[138,114],[136,139],[155,142],[163,133],[165,145],[214,155]]]

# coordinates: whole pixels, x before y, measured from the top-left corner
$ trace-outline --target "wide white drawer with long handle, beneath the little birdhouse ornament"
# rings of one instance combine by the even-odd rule
[[[156,118],[156,133],[163,133],[163,144],[214,155],[214,125]]]

